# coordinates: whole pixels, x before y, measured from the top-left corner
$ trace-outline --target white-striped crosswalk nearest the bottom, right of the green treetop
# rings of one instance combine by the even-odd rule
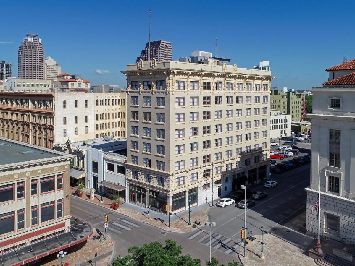
[[[199,230],[187,238],[206,246],[210,245],[210,236],[209,232],[207,231],[205,232],[203,230]],[[239,242],[221,234],[212,233],[211,246],[213,249],[223,251],[226,254],[237,256]]]

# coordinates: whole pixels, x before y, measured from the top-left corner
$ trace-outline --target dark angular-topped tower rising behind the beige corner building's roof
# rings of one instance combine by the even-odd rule
[[[138,63],[140,59],[142,59],[143,61],[152,60],[153,57],[157,60],[157,62],[171,61],[173,48],[171,48],[170,41],[151,41],[150,47],[150,56],[149,43],[147,43],[146,48],[141,51],[141,56],[137,57],[136,63]]]

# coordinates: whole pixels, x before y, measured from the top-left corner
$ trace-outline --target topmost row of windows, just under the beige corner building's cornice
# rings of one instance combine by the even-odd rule
[[[185,90],[185,81],[175,81],[175,89],[176,90]],[[211,90],[212,82],[203,82],[203,90]],[[155,82],[156,88],[158,90],[165,90],[165,81],[156,81]],[[261,84],[256,83],[254,84],[254,90],[260,90]],[[225,84],[226,90],[233,90],[234,83],[233,82],[226,82]],[[245,83],[244,86],[245,90],[252,90],[252,83]],[[131,81],[131,89],[138,90],[139,89],[139,81]],[[152,89],[152,81],[143,81],[143,89],[144,90],[151,90]],[[199,82],[198,81],[190,81],[190,90],[198,90],[199,89]],[[214,83],[215,90],[223,90],[223,82],[215,82]],[[268,90],[268,84],[262,84],[263,90]],[[235,90],[243,90],[243,83],[236,83]]]

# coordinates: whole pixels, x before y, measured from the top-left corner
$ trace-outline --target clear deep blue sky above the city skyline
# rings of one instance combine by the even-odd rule
[[[269,60],[272,87],[310,89],[327,67],[355,58],[355,1],[7,1],[2,5],[0,60],[13,61],[27,33],[39,34],[45,55],[62,72],[91,84],[125,87],[120,73],[148,41],[169,40],[173,60],[215,51],[238,67]],[[106,70],[104,74],[96,70]]]

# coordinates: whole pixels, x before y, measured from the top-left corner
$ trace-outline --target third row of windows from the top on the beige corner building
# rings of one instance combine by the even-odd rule
[[[251,108],[245,109],[245,116],[251,116]],[[190,112],[189,121],[198,121],[198,113],[199,112]],[[156,122],[165,123],[165,113],[155,113],[156,114]],[[267,115],[267,107],[262,108],[262,114]],[[260,115],[260,108],[254,108],[254,115]],[[242,109],[236,110],[236,117],[242,117]],[[223,111],[217,110],[214,111],[215,119],[223,118]],[[233,118],[233,110],[225,111],[225,118]],[[131,111],[131,120],[139,121],[139,112]],[[202,120],[211,120],[211,111],[203,111],[202,112]],[[143,112],[143,121],[152,122],[152,113],[151,112]],[[175,122],[181,123],[185,122],[185,113],[175,113]],[[266,125],[266,124],[265,124]]]

